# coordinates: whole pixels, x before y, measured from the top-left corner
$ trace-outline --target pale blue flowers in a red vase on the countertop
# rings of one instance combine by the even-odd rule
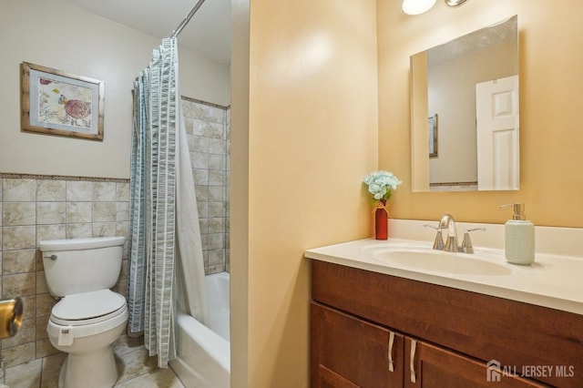
[[[390,171],[374,171],[363,179],[368,186],[368,192],[373,194],[375,206],[374,213],[374,238],[376,240],[388,239],[389,205],[386,203],[391,198],[393,190],[397,189],[403,181],[394,176]]]

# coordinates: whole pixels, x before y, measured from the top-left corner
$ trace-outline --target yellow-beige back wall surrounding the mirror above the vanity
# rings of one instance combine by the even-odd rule
[[[400,0],[377,2],[379,167],[404,180],[392,197],[398,219],[504,222],[500,204],[521,201],[537,225],[583,226],[583,2],[472,0],[444,2],[424,15],[404,15]],[[520,190],[412,193],[409,56],[483,26],[518,15],[520,57]]]

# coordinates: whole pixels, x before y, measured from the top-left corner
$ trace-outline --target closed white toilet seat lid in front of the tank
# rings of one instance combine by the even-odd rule
[[[86,321],[118,311],[125,305],[126,299],[114,291],[81,292],[58,301],[52,316],[61,321]]]

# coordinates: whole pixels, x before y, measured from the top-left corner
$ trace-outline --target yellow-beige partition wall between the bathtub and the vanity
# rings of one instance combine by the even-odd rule
[[[247,81],[232,59],[231,317],[242,328],[231,381],[307,387],[303,250],[370,231],[362,179],[377,167],[375,5],[256,0],[250,13]]]

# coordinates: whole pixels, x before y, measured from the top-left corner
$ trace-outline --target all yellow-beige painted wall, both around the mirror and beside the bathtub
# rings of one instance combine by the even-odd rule
[[[249,2],[236,3],[244,18]],[[497,206],[524,201],[537,224],[583,225],[583,3],[472,0],[452,9],[437,2],[425,15],[407,16],[401,0],[383,0],[376,36],[370,2],[272,3],[251,4],[251,55],[248,62],[240,56],[250,78],[242,68],[232,86],[232,174],[244,174],[231,208],[231,242],[241,248],[232,247],[231,257],[239,290],[232,296],[233,387],[308,386],[302,250],[369,233],[360,180],[374,168],[404,180],[392,199],[395,218],[451,212],[458,220],[504,222],[508,214]],[[521,189],[412,193],[409,56],[510,15],[518,15],[521,40]],[[377,74],[378,139],[371,107]],[[237,113],[247,102],[249,110],[240,105]],[[238,127],[248,131],[235,135]],[[378,147],[378,165],[371,147]]]

